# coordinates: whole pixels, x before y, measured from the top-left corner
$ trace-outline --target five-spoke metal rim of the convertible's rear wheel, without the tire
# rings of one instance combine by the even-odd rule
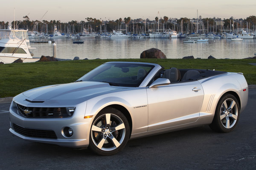
[[[230,129],[234,125],[236,125],[236,120],[238,118],[238,108],[237,104],[233,99],[226,99],[222,105],[220,110],[220,120],[221,124]]]

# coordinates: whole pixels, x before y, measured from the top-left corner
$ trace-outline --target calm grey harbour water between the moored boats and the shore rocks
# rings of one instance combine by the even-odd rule
[[[185,56],[207,59],[242,59],[256,53],[256,40],[233,42],[230,39],[209,39],[209,42],[183,43],[184,39],[83,39],[84,44],[73,44],[74,39],[55,39],[57,58],[73,59],[127,59],[140,58],[149,48],[160,49],[167,58],[179,59]],[[52,56],[52,44],[31,43],[35,57]]]

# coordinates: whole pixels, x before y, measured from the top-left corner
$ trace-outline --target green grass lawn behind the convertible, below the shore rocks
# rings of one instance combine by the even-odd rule
[[[256,84],[255,59],[93,59],[0,65],[0,97],[10,97],[31,88],[74,82],[109,61],[152,62],[164,68],[199,68],[241,72],[249,85]]]

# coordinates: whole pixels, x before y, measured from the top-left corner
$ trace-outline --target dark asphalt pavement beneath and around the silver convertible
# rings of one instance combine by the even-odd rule
[[[113,156],[27,142],[9,132],[10,102],[0,103],[0,170],[256,170],[256,89],[231,133],[208,126],[128,141]]]

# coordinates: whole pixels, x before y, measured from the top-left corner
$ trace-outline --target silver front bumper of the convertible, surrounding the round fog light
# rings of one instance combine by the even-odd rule
[[[76,111],[73,116],[68,118],[26,118],[17,113],[15,102],[12,102],[9,114],[11,125],[9,131],[26,141],[57,144],[64,147],[87,147],[89,145],[90,125],[94,117],[84,119],[85,109],[86,103],[76,105]],[[17,127],[20,127],[20,130],[32,130],[36,133],[51,131],[55,133],[55,139],[47,138],[47,135],[43,135],[43,137],[35,135],[35,137],[29,133],[30,131],[28,133],[22,133],[20,130],[17,130]],[[71,137],[65,136],[65,127],[70,127],[73,130]]]

